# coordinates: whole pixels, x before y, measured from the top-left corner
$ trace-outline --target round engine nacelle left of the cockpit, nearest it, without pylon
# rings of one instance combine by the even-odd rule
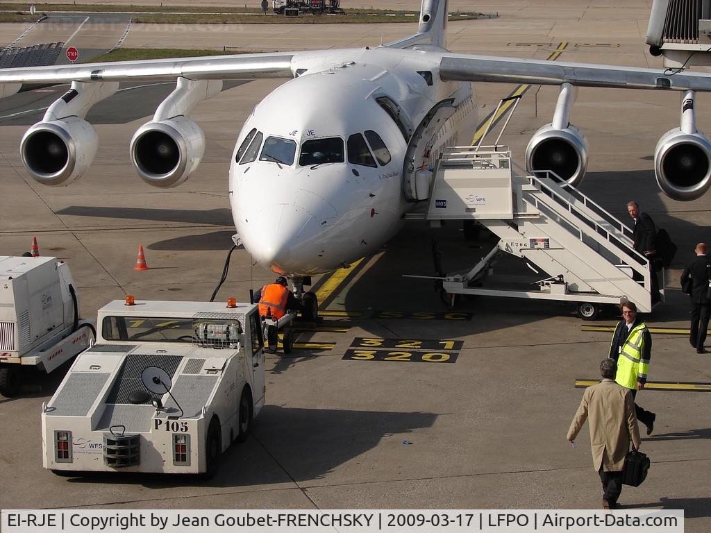
[[[205,135],[186,117],[147,122],[134,134],[130,150],[143,181],[154,187],[176,187],[200,164]]]

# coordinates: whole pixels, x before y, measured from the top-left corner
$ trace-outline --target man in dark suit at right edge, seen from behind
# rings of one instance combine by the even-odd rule
[[[696,348],[696,353],[708,353],[704,348],[706,330],[711,316],[711,302],[706,293],[711,275],[711,257],[707,256],[706,244],[696,245],[696,259],[684,269],[681,274],[681,286],[691,284],[691,328],[689,342]]]

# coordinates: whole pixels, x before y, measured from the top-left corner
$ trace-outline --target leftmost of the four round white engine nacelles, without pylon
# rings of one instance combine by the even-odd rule
[[[94,161],[99,137],[79,117],[38,122],[22,137],[20,154],[33,180],[43,185],[69,185]]]

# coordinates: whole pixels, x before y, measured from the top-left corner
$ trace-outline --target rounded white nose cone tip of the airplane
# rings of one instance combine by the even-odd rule
[[[260,208],[242,237],[261,264],[277,272],[291,272],[304,268],[316,230],[318,227],[308,210],[278,204]]]

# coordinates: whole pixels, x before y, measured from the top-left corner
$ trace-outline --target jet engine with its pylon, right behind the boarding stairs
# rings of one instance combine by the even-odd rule
[[[525,154],[528,172],[553,171],[573,186],[585,176],[588,154],[584,134],[568,120],[576,96],[575,87],[561,85],[552,122],[533,134]]]

